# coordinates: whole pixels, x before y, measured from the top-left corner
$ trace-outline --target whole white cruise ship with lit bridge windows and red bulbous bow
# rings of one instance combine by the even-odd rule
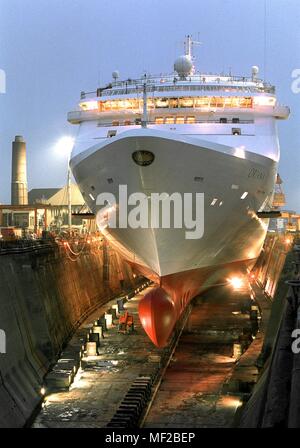
[[[193,297],[255,264],[280,155],[276,122],[289,116],[257,66],[248,76],[203,73],[192,47],[187,36],[170,74],[122,81],[113,72],[109,84],[82,92],[68,115],[79,126],[70,167],[86,203],[110,244],[155,283],[139,316],[159,347]],[[171,210],[174,193],[198,194],[201,235],[187,237],[175,219],[169,226],[152,220],[125,226],[118,217],[112,225],[123,206],[120,186],[127,197],[141,193],[151,205],[160,194]],[[116,200],[101,202],[103,193]],[[130,213],[130,200],[127,206]]]

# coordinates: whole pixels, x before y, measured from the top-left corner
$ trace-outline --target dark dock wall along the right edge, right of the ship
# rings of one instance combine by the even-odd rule
[[[278,244],[278,243],[277,243]],[[278,262],[278,248],[270,256]],[[288,247],[287,247],[288,249]],[[291,249],[291,246],[289,247]],[[299,427],[299,355],[292,351],[294,329],[299,328],[297,297],[288,285],[299,279],[299,251],[289,251],[276,282],[264,344],[257,360],[260,377],[241,412],[240,427]]]

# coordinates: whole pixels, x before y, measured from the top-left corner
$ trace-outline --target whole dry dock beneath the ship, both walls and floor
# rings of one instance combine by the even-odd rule
[[[164,349],[150,342],[138,318],[152,286],[102,238],[26,244],[2,247],[0,257],[0,328],[10,335],[1,355],[1,426],[258,425],[265,372],[278,365],[270,354],[286,312],[285,280],[299,268],[290,254],[285,261],[291,239],[270,235],[242,286],[219,285],[195,298]],[[125,309],[114,315],[120,298]],[[120,333],[126,310],[134,331]],[[89,355],[88,334],[105,312],[113,325],[98,354]],[[287,381],[289,375],[286,369]]]

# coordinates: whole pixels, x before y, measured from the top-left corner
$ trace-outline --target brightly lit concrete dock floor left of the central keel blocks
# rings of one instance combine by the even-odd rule
[[[126,309],[134,315],[135,332],[120,334],[117,325],[109,329],[101,340],[100,356],[83,359],[83,368],[69,391],[52,393],[45,398],[33,427],[105,427],[135,378],[156,368],[157,364],[149,356],[160,356],[164,351],[151,343],[138,320],[138,302],[146,291],[126,303]],[[91,323],[112,303],[91,316],[75,338],[80,340]]]

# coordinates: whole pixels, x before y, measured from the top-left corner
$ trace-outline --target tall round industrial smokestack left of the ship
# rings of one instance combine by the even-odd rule
[[[21,135],[12,144],[11,203],[28,204],[26,143]]]

